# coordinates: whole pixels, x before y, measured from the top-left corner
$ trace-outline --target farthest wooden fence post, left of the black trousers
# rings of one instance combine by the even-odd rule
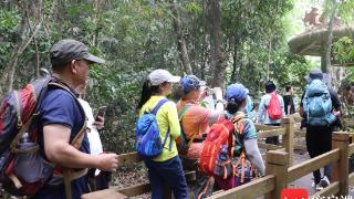
[[[281,126],[285,128],[285,134],[282,136],[282,145],[289,153],[289,165],[293,165],[294,159],[294,118],[283,117],[281,119]]]

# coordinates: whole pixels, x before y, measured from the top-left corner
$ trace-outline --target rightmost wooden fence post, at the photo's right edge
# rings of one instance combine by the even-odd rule
[[[332,135],[332,149],[340,148],[340,160],[333,164],[331,181],[340,181],[339,196],[348,193],[348,145],[350,134],[345,132],[334,132]]]

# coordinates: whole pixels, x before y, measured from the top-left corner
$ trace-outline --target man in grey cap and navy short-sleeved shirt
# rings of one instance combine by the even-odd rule
[[[50,50],[52,78],[76,94],[74,88],[88,78],[90,64],[103,64],[104,60],[88,53],[87,48],[75,40],[61,40]],[[90,155],[87,136],[79,149],[71,145],[86,121],[75,95],[63,88],[49,88],[39,107],[39,144],[45,159],[55,168],[98,168],[114,171],[117,167],[116,154]],[[46,185],[33,197],[40,199],[80,198],[87,192],[86,177],[74,177],[72,181],[60,180],[54,186],[55,171]],[[64,182],[65,181],[65,186]]]

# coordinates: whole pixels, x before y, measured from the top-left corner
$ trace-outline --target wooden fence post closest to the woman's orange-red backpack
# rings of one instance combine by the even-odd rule
[[[289,153],[270,150],[267,153],[266,175],[275,176],[274,190],[266,199],[280,199],[281,191],[288,187]]]

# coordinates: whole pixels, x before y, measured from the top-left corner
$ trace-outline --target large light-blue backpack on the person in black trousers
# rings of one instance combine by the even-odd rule
[[[313,80],[308,85],[302,103],[311,126],[327,126],[335,122],[329,87],[321,80]]]

